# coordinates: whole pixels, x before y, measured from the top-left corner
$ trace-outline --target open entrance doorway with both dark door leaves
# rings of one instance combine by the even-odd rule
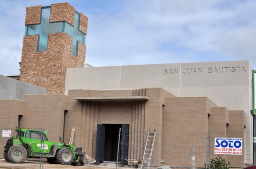
[[[118,161],[127,163],[129,125],[124,124],[98,124],[96,141],[96,162],[115,162],[117,158],[119,129],[121,128],[121,148],[119,149]]]

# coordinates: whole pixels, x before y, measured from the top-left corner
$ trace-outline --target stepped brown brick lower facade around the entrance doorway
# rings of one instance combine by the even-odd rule
[[[23,115],[20,124],[22,128],[45,128],[50,140],[59,142],[59,136],[62,137],[63,134],[66,110],[64,142],[69,142],[71,129],[75,127],[74,145],[82,147],[89,156],[95,158],[97,124],[128,124],[130,129],[128,158],[131,159],[142,159],[147,131],[149,128],[152,131],[156,129],[154,161],[151,164],[156,166],[171,160],[180,160],[182,162],[179,163],[180,166],[189,166],[189,157],[185,156],[189,153],[187,147],[198,147],[195,150],[198,160],[196,162],[199,165],[200,161],[200,165],[203,166],[206,158],[207,131],[211,131],[211,158],[216,156],[214,155],[215,137],[243,138],[244,134],[245,113],[218,107],[207,97],[174,97],[162,88],[116,91],[73,90],[69,94],[72,96],[37,94],[24,95],[24,101],[0,100],[1,126],[2,128],[10,124],[16,126],[20,114]],[[92,102],[73,98],[135,95],[148,96],[149,100]],[[178,140],[175,146],[168,146],[175,140]],[[178,156],[175,154],[177,150]],[[184,150],[186,152],[183,152]],[[168,156],[163,152],[168,153]],[[246,150],[243,150],[243,153],[246,153]],[[230,161],[232,167],[243,167],[244,155],[223,157]],[[163,163],[160,163],[161,161]]]

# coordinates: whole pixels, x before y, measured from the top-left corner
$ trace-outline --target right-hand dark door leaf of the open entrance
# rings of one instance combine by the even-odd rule
[[[129,125],[122,125],[121,130],[121,163],[127,164],[129,149]]]

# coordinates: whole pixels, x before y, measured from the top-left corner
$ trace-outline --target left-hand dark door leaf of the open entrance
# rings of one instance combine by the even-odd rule
[[[104,161],[105,125],[97,124],[96,163]]]

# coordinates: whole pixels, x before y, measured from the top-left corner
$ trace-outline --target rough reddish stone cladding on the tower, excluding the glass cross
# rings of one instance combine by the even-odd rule
[[[27,8],[26,23],[36,24],[35,13],[40,6]],[[67,21],[74,25],[74,7],[68,3],[53,4],[51,22]],[[87,32],[87,17],[81,15],[80,28]],[[47,51],[37,51],[38,35],[24,36],[21,56],[20,81],[47,88],[47,94],[64,94],[67,68],[83,67],[86,45],[78,43],[77,57],[72,55],[72,37],[67,33],[48,34]]]

